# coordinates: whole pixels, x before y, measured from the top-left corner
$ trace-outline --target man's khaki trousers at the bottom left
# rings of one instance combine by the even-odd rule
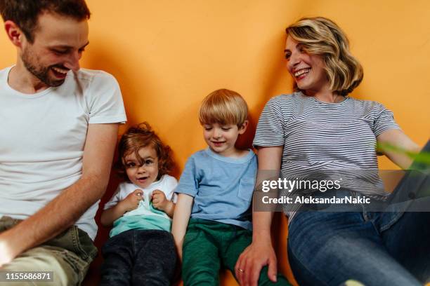
[[[20,219],[2,217],[0,232],[11,229]],[[22,233],[25,236],[25,233]],[[0,285],[80,285],[97,248],[88,234],[72,226],[46,243],[20,254],[0,271],[53,271],[53,282],[0,282]],[[0,254],[1,255],[1,254]]]

